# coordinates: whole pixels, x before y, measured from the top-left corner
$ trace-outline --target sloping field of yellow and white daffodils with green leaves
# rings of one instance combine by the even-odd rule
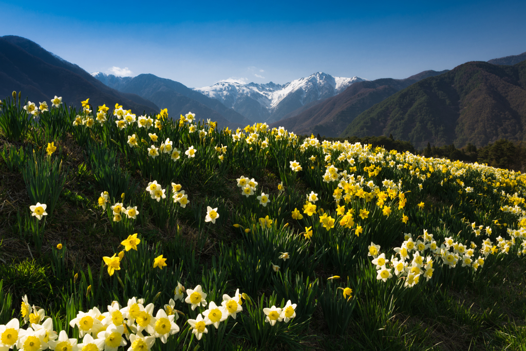
[[[0,351],[526,350],[525,175],[82,106],[0,104]]]

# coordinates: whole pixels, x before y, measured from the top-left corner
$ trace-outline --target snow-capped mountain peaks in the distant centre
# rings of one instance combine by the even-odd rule
[[[219,82],[195,90],[234,108],[252,121],[275,122],[306,104],[335,96],[349,85],[366,80],[317,72],[284,85]]]

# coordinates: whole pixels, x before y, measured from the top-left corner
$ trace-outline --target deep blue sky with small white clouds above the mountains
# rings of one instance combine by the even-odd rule
[[[189,87],[287,83],[325,72],[406,78],[526,51],[526,1],[0,0],[19,35],[88,72]]]

